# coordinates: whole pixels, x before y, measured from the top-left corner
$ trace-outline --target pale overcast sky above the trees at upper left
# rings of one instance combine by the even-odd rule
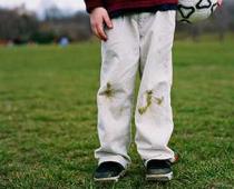
[[[39,14],[53,4],[69,12],[85,9],[84,0],[0,0],[0,7],[3,8],[14,8],[20,4],[25,4],[27,9],[37,11]]]

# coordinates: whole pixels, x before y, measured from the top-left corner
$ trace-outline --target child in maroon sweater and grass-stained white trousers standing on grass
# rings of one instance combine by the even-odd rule
[[[137,70],[140,87],[135,110],[137,151],[148,180],[170,180],[174,151],[170,87],[177,0],[85,0],[91,29],[101,40],[97,93],[100,148],[95,151],[97,181],[118,180],[130,163],[130,120]]]

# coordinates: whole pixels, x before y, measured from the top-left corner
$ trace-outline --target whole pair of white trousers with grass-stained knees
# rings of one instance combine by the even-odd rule
[[[130,122],[135,78],[140,71],[140,87],[135,110],[137,151],[144,162],[173,159],[168,148],[173,132],[170,107],[172,48],[175,11],[143,12],[113,19],[101,42],[100,88],[97,93],[100,148],[99,163],[130,162]]]

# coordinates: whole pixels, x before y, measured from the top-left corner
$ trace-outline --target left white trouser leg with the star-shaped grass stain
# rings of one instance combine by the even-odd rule
[[[101,43],[100,88],[97,93],[98,136],[100,148],[95,151],[99,163],[130,162],[131,103],[139,60],[139,34],[131,17],[113,19],[106,30],[108,40]]]

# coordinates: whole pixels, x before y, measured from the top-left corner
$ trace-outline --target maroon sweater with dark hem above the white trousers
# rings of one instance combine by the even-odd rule
[[[89,13],[97,7],[104,7],[110,17],[116,17],[126,12],[174,10],[178,0],[85,0],[85,2]]]

